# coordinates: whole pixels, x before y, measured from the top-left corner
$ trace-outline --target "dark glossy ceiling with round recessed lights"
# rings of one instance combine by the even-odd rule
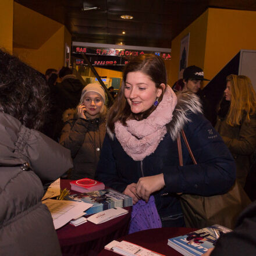
[[[207,8],[256,11],[255,0],[15,0],[65,24],[73,41],[171,48]],[[98,7],[82,10],[83,6]],[[121,19],[131,15],[133,19]],[[122,31],[126,34],[123,35]]]

